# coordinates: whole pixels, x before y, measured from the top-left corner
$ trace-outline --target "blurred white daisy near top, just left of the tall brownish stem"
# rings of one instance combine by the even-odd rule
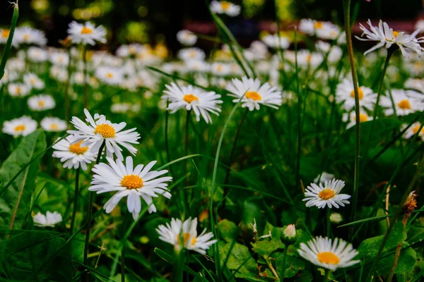
[[[310,18],[300,20],[299,30],[307,35],[315,35],[321,39],[336,39],[340,35],[340,27],[330,22],[312,20]]]

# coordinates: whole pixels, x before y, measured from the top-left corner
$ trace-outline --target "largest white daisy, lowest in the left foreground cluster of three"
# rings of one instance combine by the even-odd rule
[[[156,161],[151,161],[146,166],[139,164],[134,168],[132,157],[126,157],[126,164],[123,164],[120,159],[116,161],[109,157],[106,159],[109,164],[101,163],[94,166],[93,172],[95,174],[88,190],[98,194],[117,191],[105,203],[104,208],[107,214],[112,212],[123,197],[128,197],[126,207],[128,207],[128,211],[131,212],[134,220],[139,218],[141,211],[140,197],[148,205],[149,213],[156,212],[152,197],[163,195],[163,197],[170,199],[171,194],[167,189],[166,182],[172,180],[172,177],[158,178],[167,171],[151,171]]]

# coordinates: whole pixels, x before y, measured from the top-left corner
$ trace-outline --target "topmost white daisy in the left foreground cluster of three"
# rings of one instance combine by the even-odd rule
[[[111,123],[105,116],[95,114],[94,118],[87,109],[84,109],[86,115],[86,123],[76,116],[72,117],[71,123],[75,125],[76,130],[68,130],[68,133],[73,135],[74,142],[83,141],[82,146],[94,144],[91,147],[91,152],[97,154],[103,141],[106,142],[107,157],[112,157],[116,154],[120,160],[123,160],[122,149],[125,147],[131,154],[136,154],[137,149],[131,144],[139,144],[140,135],[131,128],[124,130],[126,123]]]

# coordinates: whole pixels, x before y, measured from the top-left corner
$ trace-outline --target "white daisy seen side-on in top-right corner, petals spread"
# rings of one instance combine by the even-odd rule
[[[370,30],[367,30],[366,27],[360,24],[360,29],[363,31],[363,35],[365,35],[366,38],[358,36],[356,36],[356,38],[362,41],[376,41],[378,43],[371,49],[365,51],[364,55],[382,47],[389,49],[392,46],[397,46],[401,49],[402,56],[404,57],[409,56],[408,51],[413,51],[418,54],[418,56],[421,56],[423,48],[420,46],[418,39],[416,39],[418,30],[413,32],[412,35],[407,35],[405,32],[394,31],[387,23],[383,23],[382,20],[379,21],[378,27],[372,25],[371,20],[368,20],[367,24],[370,25]]]

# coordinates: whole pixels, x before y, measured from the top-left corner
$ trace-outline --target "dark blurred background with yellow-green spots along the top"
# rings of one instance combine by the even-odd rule
[[[331,20],[341,24],[341,1],[276,0],[282,27],[290,28],[300,18]],[[424,0],[353,0],[358,20],[382,18],[397,30],[412,31],[418,18],[424,18]],[[0,27],[8,27],[12,8],[8,0],[0,0]],[[261,31],[273,30],[273,0],[232,0],[242,6],[242,15],[225,22],[237,39],[248,44]],[[93,21],[108,30],[107,48],[116,49],[129,42],[165,43],[171,50],[179,48],[175,39],[178,30],[187,28],[205,35],[216,29],[203,0],[19,0],[18,25],[31,25],[45,30],[48,44],[58,46],[66,37],[72,20]],[[354,29],[355,31],[355,29]]]

